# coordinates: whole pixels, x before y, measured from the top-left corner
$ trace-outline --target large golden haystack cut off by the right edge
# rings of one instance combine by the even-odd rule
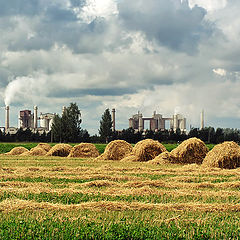
[[[234,169],[240,167],[240,147],[235,142],[216,145],[204,158],[203,166]]]

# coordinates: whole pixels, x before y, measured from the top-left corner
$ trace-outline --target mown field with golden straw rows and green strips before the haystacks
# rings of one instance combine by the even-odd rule
[[[0,239],[240,238],[239,169],[1,155],[0,178]]]

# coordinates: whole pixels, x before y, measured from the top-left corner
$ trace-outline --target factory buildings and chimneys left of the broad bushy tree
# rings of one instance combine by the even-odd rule
[[[9,112],[10,107],[5,107],[5,128],[2,129],[6,134],[16,134],[19,128],[31,129],[32,132],[39,132],[40,134],[51,130],[53,118],[55,114],[53,113],[40,113],[38,116],[38,107],[34,106],[34,111],[31,110],[21,110],[18,117],[18,128],[10,127],[9,122]]]

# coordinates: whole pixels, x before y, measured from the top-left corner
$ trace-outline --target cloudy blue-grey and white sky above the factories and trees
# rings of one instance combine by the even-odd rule
[[[240,1],[0,0],[0,126],[76,102],[98,133],[138,111],[240,128]]]

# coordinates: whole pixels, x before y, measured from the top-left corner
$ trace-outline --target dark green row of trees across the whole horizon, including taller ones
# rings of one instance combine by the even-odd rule
[[[161,142],[180,142],[191,137],[197,137],[208,143],[221,143],[224,141],[240,142],[240,131],[237,129],[223,129],[212,127],[199,130],[192,128],[188,134],[180,129],[174,132],[172,129],[153,132],[135,132],[128,128],[122,131],[112,131],[112,117],[109,109],[106,109],[100,121],[99,135],[90,136],[87,130],[81,129],[81,112],[76,103],[71,103],[63,114],[56,115],[53,120],[52,130],[48,133],[33,133],[30,129],[19,129],[16,134],[4,134],[0,131],[0,141],[35,141],[35,142],[102,142],[122,139],[129,143],[136,143],[142,139],[152,138]]]

